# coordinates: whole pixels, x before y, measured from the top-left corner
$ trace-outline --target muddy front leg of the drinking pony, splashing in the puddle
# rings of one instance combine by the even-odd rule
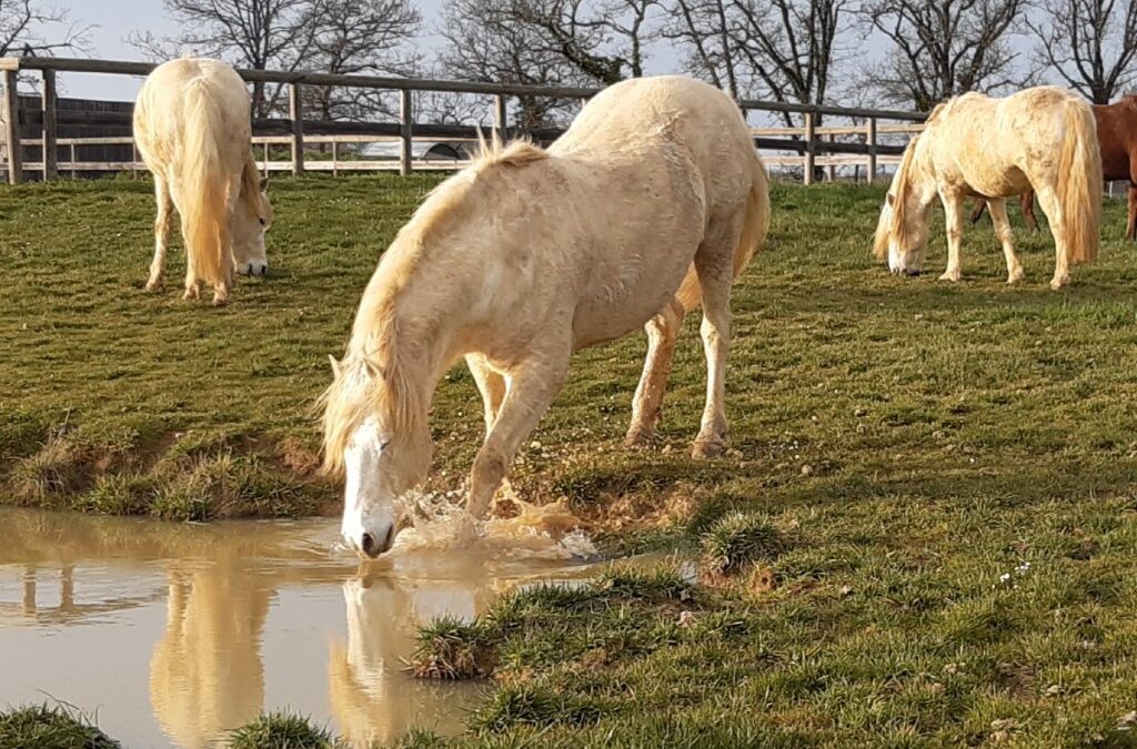
[[[475,517],[485,516],[517,448],[561,392],[570,352],[567,344],[551,346],[509,372],[509,388],[470,472],[466,509]]]

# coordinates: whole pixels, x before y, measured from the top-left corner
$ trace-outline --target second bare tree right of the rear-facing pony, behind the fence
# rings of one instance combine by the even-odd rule
[[[306,67],[325,73],[407,75],[408,47],[422,15],[408,0],[323,0]],[[391,113],[390,94],[370,89],[307,86],[306,109],[323,119],[362,119]]]

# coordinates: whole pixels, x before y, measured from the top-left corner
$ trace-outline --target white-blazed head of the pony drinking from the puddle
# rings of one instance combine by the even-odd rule
[[[377,557],[395,543],[405,514],[401,498],[426,475],[430,432],[413,398],[368,360],[337,365],[324,414],[329,467],[342,467],[343,540],[360,556]]]

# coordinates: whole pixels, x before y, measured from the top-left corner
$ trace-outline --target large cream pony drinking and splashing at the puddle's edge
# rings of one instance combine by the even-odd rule
[[[633,438],[657,418],[679,319],[703,303],[707,398],[696,456],[723,449],[730,288],[763,241],[765,169],[738,107],[665,76],[599,93],[547,151],[495,143],[402,227],[364,291],[324,394],[324,453],[346,467],[342,532],[387,550],[426,475],[428,413],[459,358],[485,441],[466,508],[484,516],[578,349],[647,326]]]

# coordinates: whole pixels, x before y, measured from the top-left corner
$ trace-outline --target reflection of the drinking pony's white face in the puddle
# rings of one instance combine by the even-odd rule
[[[460,729],[478,688],[406,673],[418,625],[441,616],[471,621],[497,594],[489,580],[343,583],[348,641],[333,642],[327,666],[332,715],[352,747],[385,744],[412,727]]]

